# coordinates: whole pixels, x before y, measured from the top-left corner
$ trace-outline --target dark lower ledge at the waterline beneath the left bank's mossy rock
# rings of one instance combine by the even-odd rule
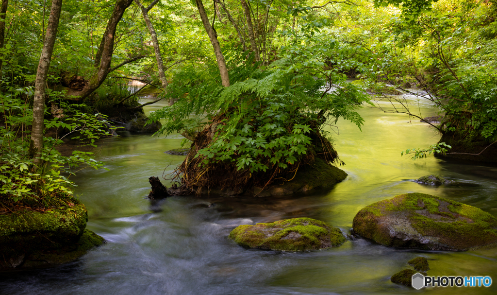
[[[105,240],[94,232],[85,229],[80,239],[73,244],[59,248],[38,249],[27,254],[18,254],[0,261],[0,271],[19,271],[59,266],[75,261]]]

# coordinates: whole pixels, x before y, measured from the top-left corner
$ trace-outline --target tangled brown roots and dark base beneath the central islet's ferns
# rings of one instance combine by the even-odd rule
[[[293,165],[287,163],[288,167],[279,168],[277,164],[270,163],[269,157],[257,159],[270,169],[265,172],[258,171],[251,173],[249,169],[238,170],[236,161],[217,161],[205,164],[205,157],[198,153],[199,150],[209,147],[219,136],[219,125],[223,123],[223,116],[218,116],[207,124],[204,129],[193,138],[191,149],[183,163],[173,172],[171,180],[179,182],[180,186],[168,189],[171,195],[191,195],[208,194],[215,191],[227,195],[240,195],[250,188],[266,188],[276,181],[281,184],[291,181],[297,174],[297,170],[306,165],[313,164],[316,158],[324,160],[326,163],[344,164],[339,160],[330,140],[324,137],[319,130],[318,122],[312,122],[311,143],[307,146],[306,154],[302,154],[300,159]],[[252,126],[254,129],[257,126]],[[236,157],[236,154],[235,154]],[[233,160],[233,159],[232,159]]]

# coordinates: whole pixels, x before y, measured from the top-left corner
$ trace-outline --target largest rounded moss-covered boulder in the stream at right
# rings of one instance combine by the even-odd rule
[[[391,247],[466,251],[497,245],[497,218],[470,205],[412,193],[362,208],[356,234]]]

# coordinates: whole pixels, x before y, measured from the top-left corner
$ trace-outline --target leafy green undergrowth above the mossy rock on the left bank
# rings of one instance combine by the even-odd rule
[[[60,138],[45,137],[44,148],[34,164],[29,151],[29,128],[32,109],[22,98],[31,95],[31,88],[9,89],[0,94],[0,204],[24,204],[49,207],[64,203],[64,196],[72,194],[76,185],[71,175],[84,167],[102,168],[103,163],[91,158],[92,153],[75,151],[71,156],[61,156],[55,146]],[[52,96],[56,96],[52,93]],[[46,119],[46,128],[66,129],[65,136],[80,139],[94,145],[95,139],[107,134],[104,121],[96,116],[82,113],[69,104],[61,104],[68,118]],[[105,168],[104,168],[105,169]],[[11,205],[10,205],[11,206]]]

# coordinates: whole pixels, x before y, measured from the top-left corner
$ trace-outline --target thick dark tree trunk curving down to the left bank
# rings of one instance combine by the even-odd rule
[[[110,62],[112,61],[112,53],[114,51],[114,39],[117,24],[123,17],[126,8],[131,5],[133,0],[117,0],[112,15],[107,22],[107,27],[105,28],[105,33],[102,36],[102,41],[98,47],[98,51],[95,57],[95,65],[98,64],[98,70],[96,74],[93,75],[83,87],[82,90],[70,89],[66,96],[73,96],[73,100],[82,100],[86,98],[91,93],[93,93],[100,85],[102,85],[107,75],[112,72],[110,67]],[[136,59],[132,59],[136,60]]]

